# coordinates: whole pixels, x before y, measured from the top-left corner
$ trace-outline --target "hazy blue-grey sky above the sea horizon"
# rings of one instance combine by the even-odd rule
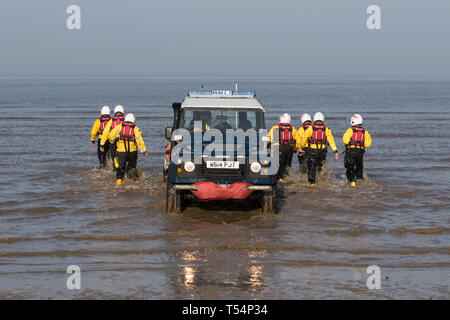
[[[448,77],[449,40],[448,0],[0,0],[0,76]]]

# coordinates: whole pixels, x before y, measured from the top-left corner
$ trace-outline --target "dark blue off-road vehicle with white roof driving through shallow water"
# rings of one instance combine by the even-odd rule
[[[257,199],[263,212],[276,213],[276,172],[270,168],[267,139],[264,139],[267,138],[264,133],[264,109],[254,96],[253,92],[191,91],[182,103],[172,105],[174,122],[172,127],[166,127],[166,138],[170,144],[166,149],[164,166],[168,212],[183,211],[184,199],[199,190],[195,186],[198,182],[210,182],[222,188],[243,182],[245,190],[251,190],[252,199]],[[223,124],[228,127],[221,127]],[[233,129],[239,137],[230,138],[229,129]],[[220,151],[216,154],[216,148],[207,150],[211,144],[211,141],[206,141],[207,136],[213,135],[214,130],[231,140],[226,137],[222,138],[223,141],[213,139],[213,144],[222,147],[218,149],[224,150],[223,154]],[[179,132],[183,132],[183,136]],[[197,144],[200,144],[197,148],[201,149],[198,152],[194,139],[199,137],[202,140]]]

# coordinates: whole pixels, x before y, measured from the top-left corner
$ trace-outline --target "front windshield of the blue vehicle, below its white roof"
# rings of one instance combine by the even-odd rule
[[[180,128],[194,130],[194,121],[202,122],[203,131],[218,129],[265,129],[264,116],[260,109],[218,109],[218,108],[184,108],[181,113]]]

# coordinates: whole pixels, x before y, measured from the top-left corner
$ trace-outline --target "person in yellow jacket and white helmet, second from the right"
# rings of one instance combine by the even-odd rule
[[[333,150],[336,160],[339,159],[333,134],[331,133],[331,129],[325,125],[325,117],[322,112],[316,112],[313,120],[314,123],[306,129],[301,142],[302,149],[309,148],[308,159],[311,161],[311,168],[308,172],[308,181],[311,187],[315,186],[316,174],[322,171],[327,159],[328,145]]]

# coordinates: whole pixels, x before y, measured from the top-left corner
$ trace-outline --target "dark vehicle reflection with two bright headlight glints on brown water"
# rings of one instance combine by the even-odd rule
[[[192,232],[189,238],[167,239],[168,247],[184,249],[174,256],[179,272],[172,282],[174,296],[223,299],[233,297],[233,292],[240,292],[242,298],[249,293],[254,296],[265,288],[263,264],[268,257],[268,250],[258,247],[266,241],[276,243],[280,234],[261,237],[253,226],[272,230],[277,221],[241,201],[221,202],[208,210],[210,206],[201,203],[189,206],[182,215],[168,216],[168,229]]]

